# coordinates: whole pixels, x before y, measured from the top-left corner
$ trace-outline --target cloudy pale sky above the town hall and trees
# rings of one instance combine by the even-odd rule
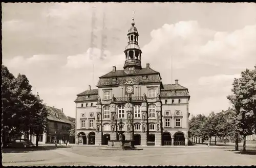
[[[132,17],[142,67],[187,87],[192,115],[226,110],[233,79],[256,64],[255,3],[6,3],[2,12],[3,64],[71,117],[76,94],[122,69]]]

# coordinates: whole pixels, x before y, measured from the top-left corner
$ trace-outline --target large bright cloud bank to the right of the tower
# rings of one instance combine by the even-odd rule
[[[173,56],[176,68],[198,63],[229,67],[241,62],[242,66],[251,66],[248,60],[256,61],[256,25],[217,32],[200,27],[197,21],[180,21],[153,30],[151,37],[150,43],[142,47],[146,60],[154,60],[156,55],[170,60]]]

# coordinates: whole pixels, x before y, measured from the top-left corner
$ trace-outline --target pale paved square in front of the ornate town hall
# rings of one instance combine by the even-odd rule
[[[230,146],[152,147],[141,151],[103,151],[98,148],[5,149],[3,165],[256,165],[255,147],[247,147],[249,152],[246,154],[234,152]]]

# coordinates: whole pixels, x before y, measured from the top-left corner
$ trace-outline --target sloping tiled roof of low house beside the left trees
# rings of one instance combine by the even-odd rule
[[[62,112],[62,110],[57,109],[57,108],[53,108],[53,107],[46,107],[48,110],[48,119],[50,121],[55,121],[55,122],[62,122],[62,123],[68,123],[71,124],[71,122],[69,121],[69,118]],[[56,116],[56,113],[58,114]]]

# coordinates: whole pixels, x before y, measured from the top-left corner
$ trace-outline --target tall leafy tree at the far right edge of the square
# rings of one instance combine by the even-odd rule
[[[236,111],[234,125],[237,129],[236,150],[238,150],[238,134],[243,136],[243,151],[246,150],[247,135],[251,135],[256,126],[256,66],[254,70],[242,71],[241,78],[234,79],[232,95],[227,99]]]

